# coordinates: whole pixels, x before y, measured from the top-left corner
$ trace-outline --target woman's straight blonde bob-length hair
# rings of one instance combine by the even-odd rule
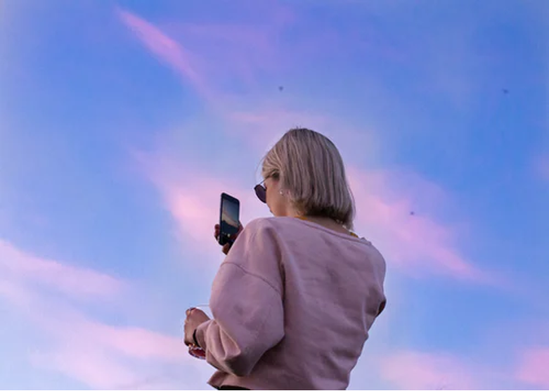
[[[328,137],[291,129],[265,155],[261,174],[280,180],[299,214],[330,217],[353,229],[354,198],[340,151]]]

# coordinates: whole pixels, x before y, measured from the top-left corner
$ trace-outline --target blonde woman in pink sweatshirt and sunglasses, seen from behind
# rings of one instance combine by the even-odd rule
[[[189,309],[185,342],[205,350],[218,389],[344,390],[385,308],[385,260],[350,231],[354,200],[328,138],[290,130],[262,175],[274,217],[240,232],[214,279],[214,319]]]

